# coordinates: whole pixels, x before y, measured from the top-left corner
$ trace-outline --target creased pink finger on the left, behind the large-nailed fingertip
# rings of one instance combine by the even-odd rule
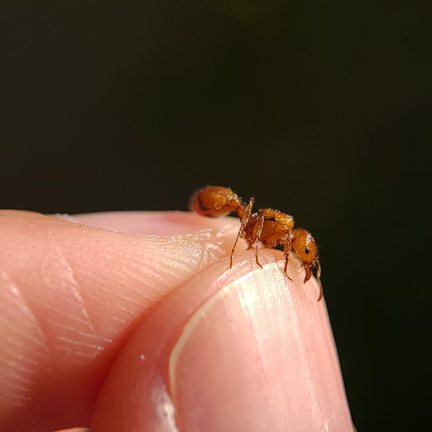
[[[181,212],[61,217],[0,212],[1,431],[88,426],[133,328],[238,229]]]

